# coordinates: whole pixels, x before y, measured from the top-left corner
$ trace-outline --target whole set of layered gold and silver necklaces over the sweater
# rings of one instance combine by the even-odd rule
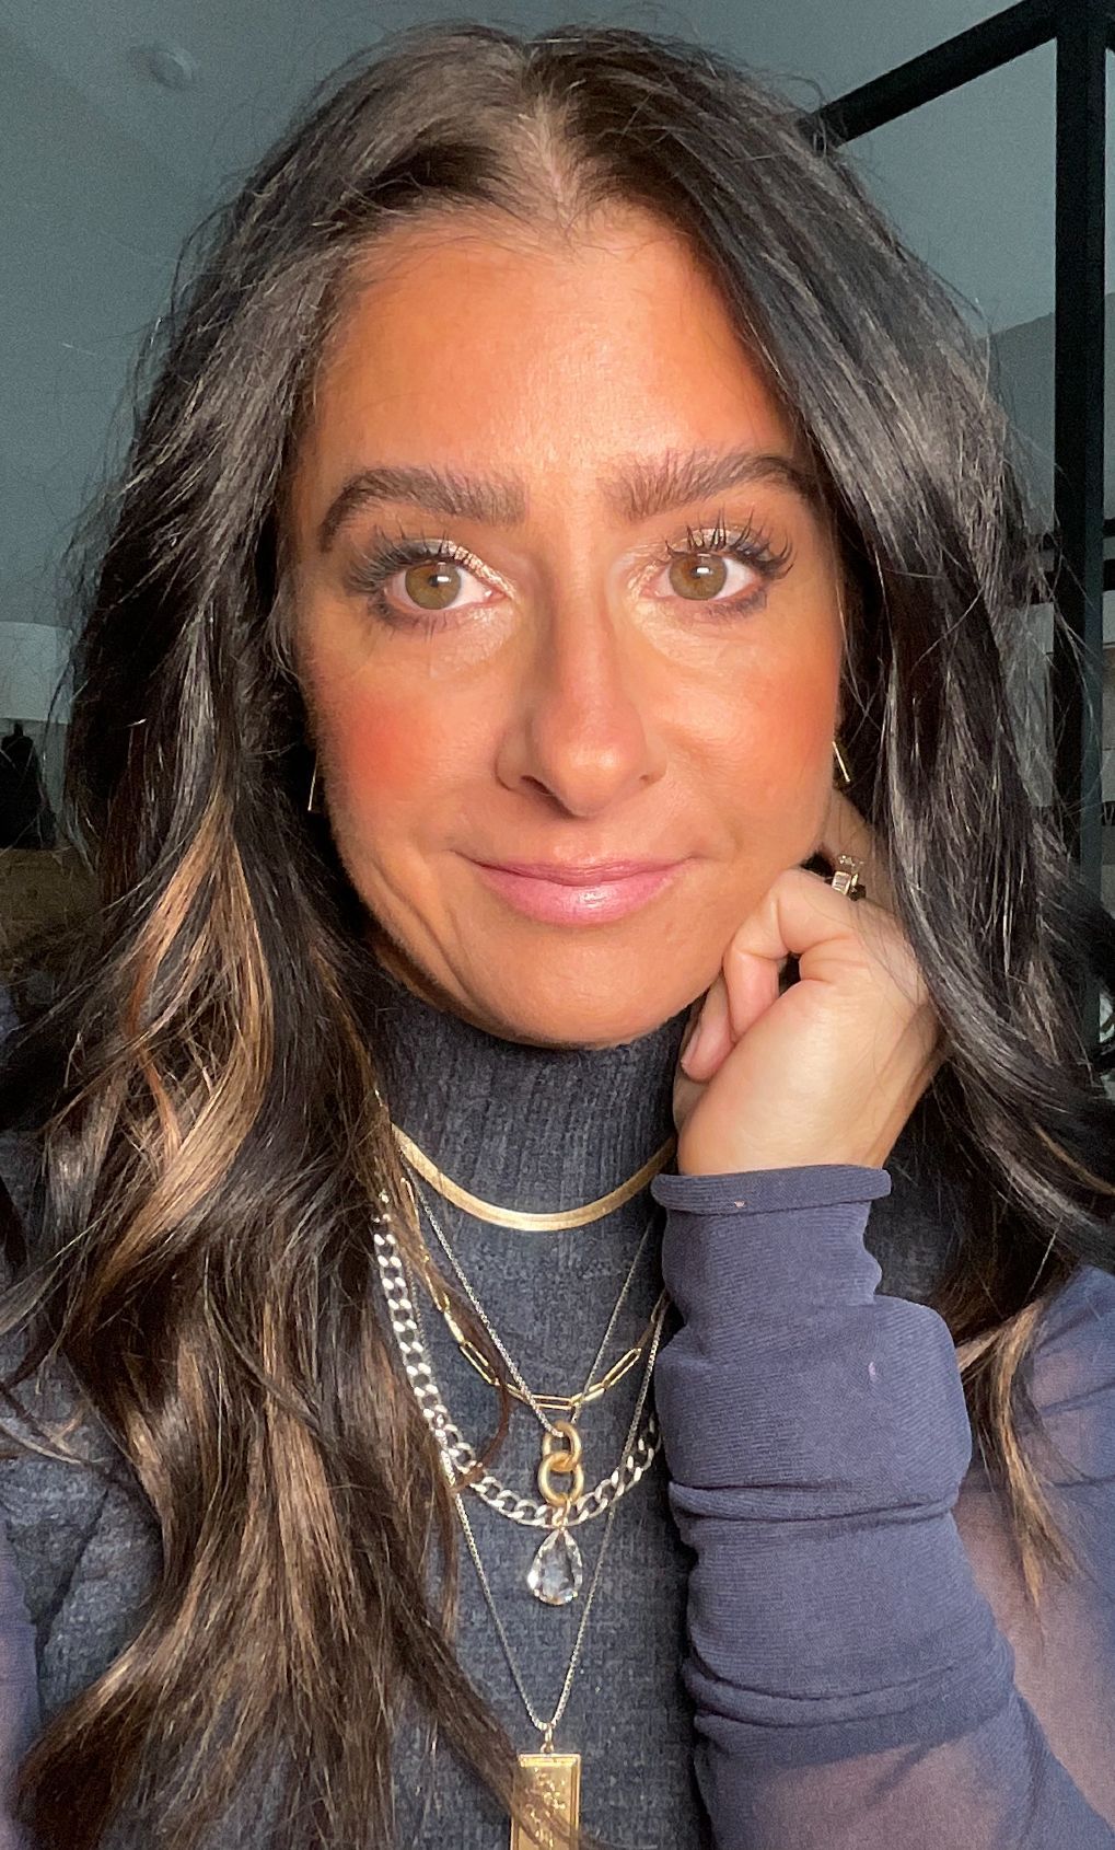
[[[392,1230],[394,1214],[392,1202],[386,1190],[381,1191],[379,1202],[381,1212],[375,1225],[374,1243],[375,1258],[379,1262],[379,1275],[383,1280],[383,1289],[388,1304],[390,1325],[396,1336],[403,1369],[418,1406],[438,1441],[438,1458],[442,1469],[449,1482],[453,1493],[453,1504],[460,1517],[464,1530],[464,1539],[477,1571],[477,1580],[481,1593],[492,1615],[499,1645],[507,1658],[512,1682],[523,1702],[523,1708],[531,1719],[531,1724],[542,1737],[540,1752],[520,1754],[520,1780],[523,1782],[523,1791],[527,1798],[527,1811],[533,1819],[533,1833],[521,1832],[520,1824],[512,1820],[510,1832],[510,1850],[544,1850],[545,1844],[553,1841],[549,1817],[562,1819],[564,1822],[577,1824],[581,1813],[581,1754],[579,1752],[558,1752],[555,1748],[555,1730],[564,1715],[566,1704],[570,1700],[570,1691],[573,1687],[573,1676],[581,1661],[581,1650],[584,1643],[584,1632],[588,1626],[588,1615],[592,1611],[592,1602],[599,1585],[605,1554],[608,1548],[608,1539],[612,1534],[612,1524],[616,1521],[616,1510],[619,1498],[631,1489],[647,1467],[653,1463],[658,1445],[658,1423],[653,1408],[647,1410],[643,1419],[643,1406],[651,1388],[655,1356],[662,1339],[662,1326],[666,1323],[666,1314],[669,1310],[669,1297],[660,1291],[658,1301],[651,1312],[651,1317],[640,1336],[640,1339],[629,1347],[610,1367],[597,1375],[601,1369],[607,1347],[612,1339],[619,1312],[634,1280],[638,1262],[643,1254],[651,1230],[656,1223],[658,1210],[651,1214],[643,1234],[638,1241],[634,1258],[627,1269],[623,1286],[608,1317],[603,1339],[597,1347],[594,1362],[588,1369],[584,1386],[573,1393],[534,1393],[521,1369],[516,1365],[507,1350],[507,1345],[499,1338],[492,1325],[492,1319],[484,1312],[472,1282],[468,1280],[460,1260],[453,1252],[440,1221],[436,1219],[433,1206],[429,1202],[427,1190],[422,1186],[429,1184],[438,1195],[451,1201],[455,1206],[486,1221],[496,1227],[523,1230],[523,1232],[555,1232],[568,1227],[586,1227],[592,1221],[603,1219],[605,1214],[623,1206],[632,1201],[642,1188],[666,1167],[673,1151],[677,1147],[677,1138],[669,1136],[666,1143],[636,1171],[627,1182],[601,1195],[599,1201],[592,1201],[581,1208],[568,1208],[555,1214],[525,1214],[516,1208],[497,1206],[496,1202],[483,1201],[483,1197],[470,1193],[453,1182],[444,1171],[440,1171],[431,1158],[398,1127],[394,1136],[403,1160],[407,1162],[410,1175],[403,1177],[405,1184],[405,1212],[410,1225],[410,1243],[418,1254],[418,1278],[412,1278],[410,1267],[403,1258],[399,1241]],[[436,1243],[446,1254],[457,1280],[473,1306],[479,1321],[492,1338],[492,1345],[499,1354],[507,1376],[496,1376],[481,1354],[481,1350],[468,1339],[466,1332],[460,1328],[457,1317],[453,1315],[451,1302],[440,1284],[429,1245],[422,1232],[422,1217],[425,1215]],[[483,1471],[479,1467],[477,1454],[473,1447],[464,1439],[459,1426],[451,1421],[442,1393],[438,1389],[433,1362],[429,1354],[429,1345],[425,1339],[425,1328],[422,1323],[422,1312],[418,1306],[418,1284],[422,1284],[440,1312],[453,1341],[470,1362],[473,1369],[490,1384],[505,1386],[512,1397],[521,1404],[529,1406],[538,1424],[542,1426],[542,1450],[536,1467],[536,1484],[542,1495],[542,1502],[521,1497],[505,1486],[496,1473]],[[579,1419],[586,1406],[599,1400],[610,1388],[616,1386],[632,1367],[636,1367],[640,1356],[643,1356],[643,1369],[640,1378],[640,1388],[636,1395],[634,1413],[627,1428],[627,1437],[619,1460],[614,1469],[603,1476],[590,1491],[584,1489],[584,1463],[582,1463],[582,1437],[579,1430]],[[640,1424],[642,1423],[642,1424]],[[584,1567],[581,1560],[581,1550],[575,1537],[570,1534],[577,1524],[590,1521],[595,1515],[605,1515],[605,1528],[601,1536],[601,1547],[597,1552],[595,1567],[588,1591],[584,1597],[584,1608],[581,1611],[581,1622],[577,1626],[577,1635],[573,1639],[573,1650],[570,1654],[570,1663],[562,1680],[562,1687],[549,1717],[544,1717],[534,1708],[520,1665],[516,1663],[514,1652],[510,1648],[507,1630],[499,1617],[496,1606],[492,1585],[484,1571],[477,1541],[468,1519],[468,1510],[462,1497],[462,1478],[468,1480],[468,1487],[475,1491],[490,1508],[499,1515],[508,1517],[514,1523],[521,1523],[533,1528],[545,1528],[545,1539],[540,1543],[538,1550],[527,1571],[527,1585],[536,1600],[544,1606],[566,1606],[579,1598],[584,1582]]]

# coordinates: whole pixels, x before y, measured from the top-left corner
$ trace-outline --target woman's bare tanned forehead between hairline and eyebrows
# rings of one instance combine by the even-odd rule
[[[479,215],[353,263],[303,424],[303,490],[368,459],[457,464],[545,494],[645,451],[795,453],[790,420],[684,239],[640,211],[579,233]]]

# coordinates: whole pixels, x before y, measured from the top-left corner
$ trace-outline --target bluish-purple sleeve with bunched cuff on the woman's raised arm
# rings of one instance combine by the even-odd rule
[[[1082,1569],[1041,1632],[971,1469],[949,1326],[876,1297],[864,1230],[889,1186],[851,1164],[653,1182],[717,1850],[1115,1850],[1115,1278],[1084,1267],[1034,1358]]]

